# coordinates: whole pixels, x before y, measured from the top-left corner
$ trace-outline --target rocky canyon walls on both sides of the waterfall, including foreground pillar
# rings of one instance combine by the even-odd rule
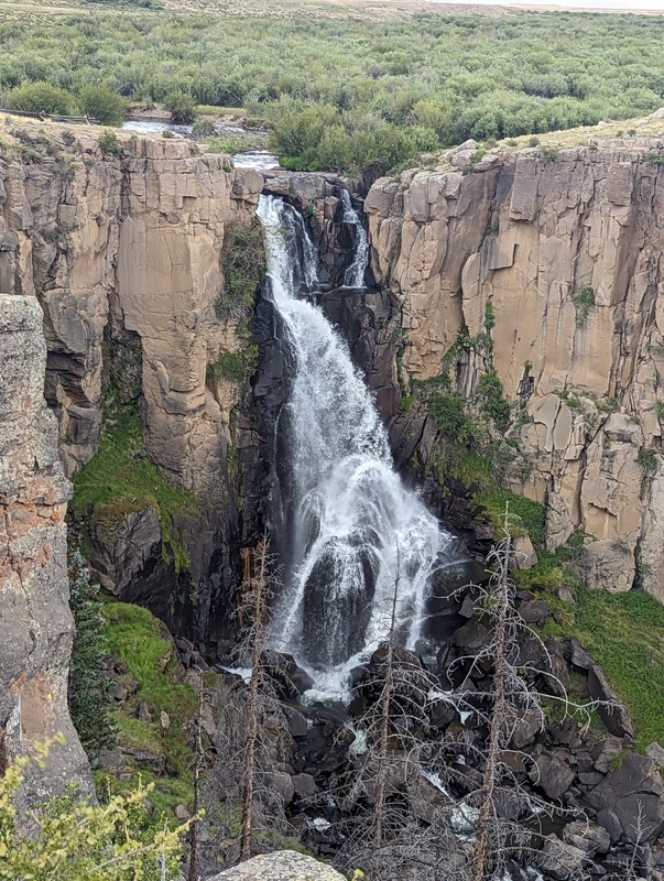
[[[150,608],[208,660],[226,651],[265,530],[284,557],[283,316],[261,295],[248,326],[218,307],[225,247],[262,194],[303,218],[318,258],[311,298],[373,392],[396,469],[434,513],[445,522],[450,486],[468,487],[444,474],[450,438],[422,390],[458,395],[479,418],[492,374],[509,418],[482,429],[511,438],[505,487],[545,505],[545,547],[580,535],[589,587],[664,601],[658,142],[555,154],[469,142],[425,170],[340,181],[236,170],[179,139],[121,135],[105,152],[94,130],[50,138],[39,162],[0,160],[0,573],[19,611],[0,618],[11,656],[0,761],[63,730],[54,766],[87,781],[66,710],[70,480],[69,534],[105,590]],[[339,290],[355,271],[350,197],[368,221],[362,291]],[[250,369],[215,369],[249,347]],[[139,414],[135,458],[183,490],[179,509],[149,492],[81,502],[113,407]],[[462,521],[479,561],[491,529],[477,507]],[[533,565],[532,543],[518,542]]]

